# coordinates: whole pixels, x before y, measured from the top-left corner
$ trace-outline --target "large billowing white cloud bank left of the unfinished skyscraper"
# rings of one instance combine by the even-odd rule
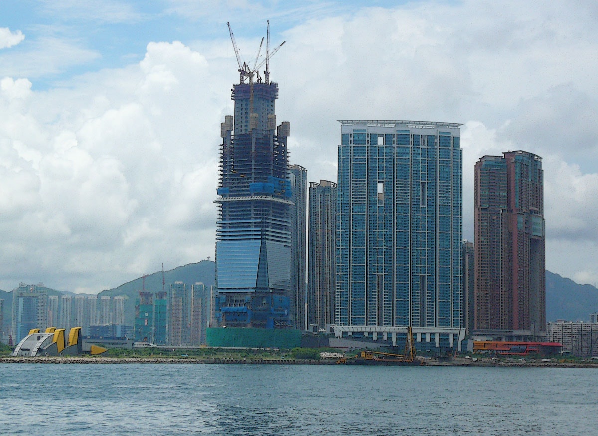
[[[212,108],[230,83],[206,87],[207,69],[181,43],[152,43],[139,65],[72,89],[36,93],[25,79],[2,81],[0,234],[14,251],[1,256],[24,262],[4,280],[44,275],[48,286],[97,292],[162,262],[213,256],[221,116]],[[206,228],[211,240],[199,237]],[[106,271],[110,283],[97,279]]]

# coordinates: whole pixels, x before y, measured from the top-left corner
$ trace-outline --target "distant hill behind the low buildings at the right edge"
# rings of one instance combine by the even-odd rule
[[[590,321],[598,311],[598,289],[577,284],[569,278],[546,271],[546,321]]]

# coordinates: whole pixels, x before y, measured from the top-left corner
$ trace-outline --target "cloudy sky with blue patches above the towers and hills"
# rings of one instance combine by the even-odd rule
[[[214,258],[220,123],[270,20],[290,163],[338,120],[463,123],[474,165],[542,157],[547,270],[598,283],[598,2],[0,0],[0,289],[97,293]]]

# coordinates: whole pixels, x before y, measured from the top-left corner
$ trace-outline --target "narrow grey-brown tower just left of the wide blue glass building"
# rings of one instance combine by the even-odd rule
[[[312,181],[309,186],[309,268],[307,324],[334,324],[336,284],[337,184]]]

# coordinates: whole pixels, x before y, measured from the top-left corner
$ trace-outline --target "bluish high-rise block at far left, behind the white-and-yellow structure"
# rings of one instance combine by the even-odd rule
[[[13,290],[13,341],[19,343],[31,329],[44,331],[48,323],[48,289],[20,283]]]

